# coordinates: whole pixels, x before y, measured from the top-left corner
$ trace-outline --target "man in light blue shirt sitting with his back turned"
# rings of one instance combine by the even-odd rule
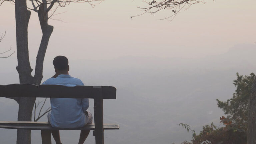
[[[78,78],[69,75],[68,59],[65,56],[57,56],[53,60],[55,75],[43,84],[77,86],[84,85]],[[87,123],[92,123],[92,114],[87,111],[89,99],[86,98],[51,98],[51,111],[48,113],[48,121],[56,128],[78,128]],[[83,144],[90,130],[81,130],[78,144]],[[51,131],[56,144],[61,144],[59,131]]]

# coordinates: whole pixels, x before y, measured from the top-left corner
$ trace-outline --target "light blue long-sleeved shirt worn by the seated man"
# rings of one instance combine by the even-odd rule
[[[78,79],[70,75],[58,75],[56,78],[49,78],[43,84],[77,86],[84,85]],[[77,128],[85,125],[84,112],[89,107],[89,99],[82,98],[51,98],[50,124],[56,128]]]

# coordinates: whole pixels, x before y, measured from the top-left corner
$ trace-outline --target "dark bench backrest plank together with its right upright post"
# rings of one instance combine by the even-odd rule
[[[75,86],[10,84],[0,85],[0,97],[93,98],[96,144],[104,144],[103,99],[116,99],[112,86]]]

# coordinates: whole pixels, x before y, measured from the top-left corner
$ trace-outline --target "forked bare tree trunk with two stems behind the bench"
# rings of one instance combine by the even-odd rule
[[[46,2],[45,2],[46,3]],[[42,39],[36,59],[35,76],[32,77],[31,66],[28,54],[28,22],[31,12],[27,10],[26,0],[15,1],[15,19],[16,19],[16,42],[17,59],[16,67],[19,73],[20,83],[29,83],[39,85],[43,78],[43,61],[48,46],[48,42],[53,31],[53,26],[48,25],[48,12],[46,4],[39,8],[38,17],[42,29]],[[31,121],[32,110],[36,98],[13,98],[19,104],[18,121]],[[17,130],[17,144],[30,144],[30,130]]]

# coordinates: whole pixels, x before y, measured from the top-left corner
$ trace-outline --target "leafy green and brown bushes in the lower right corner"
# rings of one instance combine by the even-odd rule
[[[220,117],[220,122],[225,127],[217,128],[213,123],[211,125],[203,126],[200,134],[196,135],[189,125],[180,123],[179,125],[193,133],[193,139],[188,142],[184,141],[182,144],[201,144],[208,140],[212,144],[246,144],[247,143],[247,125],[248,125],[248,111],[249,111],[249,96],[251,87],[255,81],[255,74],[250,76],[242,76],[236,73],[237,79],[234,80],[236,91],[233,98],[222,102],[218,99],[218,107],[221,108],[227,118]],[[174,144],[174,143],[173,143]]]

